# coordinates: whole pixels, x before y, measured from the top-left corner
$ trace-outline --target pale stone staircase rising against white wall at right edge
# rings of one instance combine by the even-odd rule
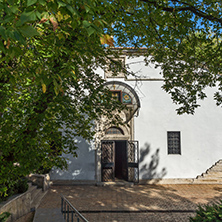
[[[222,160],[194,179],[194,184],[222,184]]]

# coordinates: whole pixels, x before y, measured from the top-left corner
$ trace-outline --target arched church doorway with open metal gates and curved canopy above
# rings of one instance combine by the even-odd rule
[[[134,115],[140,108],[139,98],[132,87],[123,82],[112,81],[106,83],[106,86],[114,97],[126,105],[121,113],[125,124],[104,129],[105,135],[98,152],[97,178],[101,182],[139,182],[139,147],[138,141],[134,140]]]

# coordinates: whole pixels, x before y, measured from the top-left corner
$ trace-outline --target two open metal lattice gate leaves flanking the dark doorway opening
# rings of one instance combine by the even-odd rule
[[[139,146],[138,141],[127,141],[127,181],[139,182]],[[115,180],[115,141],[106,140],[101,142],[101,165],[102,181]]]

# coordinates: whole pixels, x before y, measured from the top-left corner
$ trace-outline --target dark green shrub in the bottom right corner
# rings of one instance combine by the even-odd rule
[[[217,204],[199,206],[196,215],[190,222],[219,222],[222,221],[222,201]]]

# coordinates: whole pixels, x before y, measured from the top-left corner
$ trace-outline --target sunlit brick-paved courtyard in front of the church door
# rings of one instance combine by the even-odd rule
[[[222,199],[222,185],[52,186],[38,210],[59,208],[60,194],[90,222],[182,222]]]

